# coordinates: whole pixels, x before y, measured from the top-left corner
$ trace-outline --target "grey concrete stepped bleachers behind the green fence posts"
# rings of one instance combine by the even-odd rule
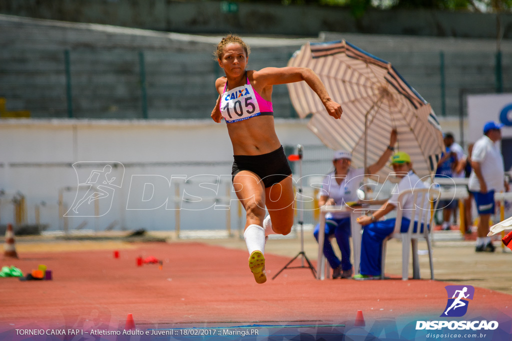
[[[201,36],[129,29],[108,25],[77,24],[54,20],[0,15],[0,95],[8,98],[11,110],[31,110],[33,117],[55,117],[54,107],[66,107],[66,60],[69,51],[73,115],[110,115],[100,108],[122,107],[124,99],[140,96],[140,55],[144,54],[147,111],[159,118],[208,117],[217,99],[214,81],[223,75],[212,54],[218,36]],[[459,112],[459,89],[479,79],[479,87],[495,86],[493,39],[380,36],[322,33],[319,38],[247,37],[251,46],[250,69],[286,66],[294,51],[306,41],[346,39],[361,49],[390,61],[396,70],[440,113],[440,52],[445,60],[445,112]],[[503,44],[503,53],[511,45]],[[503,57],[507,75],[507,58]],[[504,79],[507,80],[506,78]],[[169,89],[172,86],[172,89]],[[176,91],[174,91],[176,90]],[[88,99],[96,106],[81,105],[81,93],[100,93]],[[187,108],[173,102],[166,116],[160,103],[167,98],[182,101],[190,94],[204,96]],[[113,97],[118,100],[112,102]],[[51,100],[48,100],[51,98]],[[272,100],[276,118],[295,117],[286,86],[275,86]],[[135,100],[137,102],[137,100]],[[153,107],[153,104],[156,107]],[[140,104],[133,104],[140,105]],[[167,105],[167,104],[163,104]],[[61,115],[60,109],[59,117]],[[88,113],[89,112],[89,113]],[[106,112],[106,113],[105,113]],[[67,115],[67,114],[66,114]],[[122,116],[122,114],[120,115]],[[194,116],[194,117],[196,117]],[[126,118],[133,117],[130,113]],[[121,118],[121,117],[119,117]]]

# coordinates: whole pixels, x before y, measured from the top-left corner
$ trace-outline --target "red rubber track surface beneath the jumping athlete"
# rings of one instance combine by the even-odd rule
[[[25,253],[20,260],[2,259],[24,274],[47,265],[52,281],[0,279],[0,324],[95,328],[124,326],[132,313],[137,326],[354,320],[357,310],[367,320],[383,317],[439,316],[446,305],[445,285],[431,280],[385,281],[348,279],[317,281],[308,268],[285,269],[290,259],[266,254],[268,280],[254,282],[248,253],[198,242],[141,243],[112,251]],[[136,265],[154,256],[158,264]],[[301,265],[300,259],[292,265]],[[314,265],[316,263],[314,262]],[[512,297],[475,288],[471,315],[487,310],[510,315]],[[468,311],[469,312],[469,311]],[[470,315],[468,313],[468,315]]]

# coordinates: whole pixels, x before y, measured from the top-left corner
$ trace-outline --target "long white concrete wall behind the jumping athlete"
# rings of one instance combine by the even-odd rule
[[[281,143],[284,146],[322,145],[306,124],[307,120],[276,120]],[[441,125],[458,137],[458,120],[441,120]],[[308,167],[324,174],[331,167],[330,155],[327,153],[325,163],[315,161]],[[101,171],[106,164],[115,163],[122,164],[124,169],[119,166],[109,174],[109,178],[116,177],[113,184],[117,187],[110,186],[112,200],[97,200],[101,217],[88,217],[97,213],[94,201],[92,204],[86,202],[79,208],[79,214],[71,211],[68,214],[71,215],[68,218],[70,229],[86,222],[84,229],[101,231],[116,222],[116,230],[173,231],[176,210],[172,198],[176,179],[170,185],[169,180],[176,175],[224,175],[217,194],[201,189],[197,181],[193,185],[181,183],[180,188],[185,188],[190,195],[225,196],[230,189],[232,147],[226,125],[209,120],[3,120],[0,121],[0,189],[5,194],[0,196],[0,224],[14,221],[10,200],[19,191],[26,197],[28,223],[35,223],[35,207],[45,202],[45,206],[40,206],[40,222],[49,224],[50,230],[62,229],[63,220],[59,221],[58,212],[59,190],[70,187],[62,192],[63,202],[70,209],[73,202],[86,193],[84,186],[76,191],[78,184],[85,183],[93,170]],[[142,183],[140,177],[135,177],[132,185],[133,175],[145,177]],[[149,179],[151,175],[153,177]],[[145,182],[154,184],[154,191],[151,185],[144,187]],[[185,197],[190,197],[188,194]],[[236,230],[245,223],[245,218],[239,217],[238,201],[232,193],[230,196],[231,228]],[[167,197],[171,200],[166,203]],[[129,198],[134,206],[128,206]],[[224,229],[226,211],[210,208],[212,204],[213,201],[182,203],[181,229]],[[137,209],[127,210],[134,207]]]

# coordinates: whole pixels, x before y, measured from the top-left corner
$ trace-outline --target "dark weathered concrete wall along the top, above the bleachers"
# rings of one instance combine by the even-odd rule
[[[257,2],[170,0],[2,0],[0,13],[187,33],[316,36],[321,31],[441,37],[496,38],[497,15],[436,10],[367,11]],[[512,15],[500,14],[512,38]],[[475,23],[478,22],[478,25]]]

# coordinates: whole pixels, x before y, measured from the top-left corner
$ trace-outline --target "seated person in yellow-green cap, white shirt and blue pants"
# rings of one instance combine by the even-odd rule
[[[401,202],[398,202],[398,196],[403,191],[426,188],[418,175],[414,173],[409,154],[404,152],[395,153],[391,159],[391,164],[396,173],[396,177],[400,178],[398,191],[371,216],[361,216],[357,219],[357,222],[363,226],[364,230],[361,239],[360,274],[354,276],[356,280],[380,278],[382,241],[394,232],[396,219],[378,220],[399,206],[403,211],[401,232],[406,232],[409,229],[409,224],[412,219],[411,209],[415,207],[415,204],[419,206],[422,198],[418,196],[417,202],[415,203],[413,194],[411,193],[404,196]],[[429,204],[429,199],[425,198],[423,209],[428,210]],[[419,213],[419,210],[417,210],[416,216],[414,217],[416,221],[414,223],[414,232],[417,230]],[[425,222],[427,216],[429,216],[429,214],[423,213],[423,222]],[[421,224],[421,231],[423,231],[423,223]]]

